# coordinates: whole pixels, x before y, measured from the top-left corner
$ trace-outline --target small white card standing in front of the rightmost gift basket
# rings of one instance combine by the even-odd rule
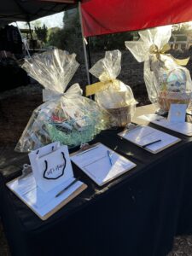
[[[185,122],[187,104],[171,104],[168,114],[168,121],[171,123]]]

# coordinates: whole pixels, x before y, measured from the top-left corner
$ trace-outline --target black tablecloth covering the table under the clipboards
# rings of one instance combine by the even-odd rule
[[[141,110],[153,112],[149,106],[137,114]],[[182,142],[154,155],[121,139],[118,131],[103,131],[95,142],[115,149],[137,167],[99,188],[73,166],[89,188],[46,221],[4,185],[28,161],[5,147],[0,156],[0,210],[13,255],[165,256],[173,236],[189,234],[192,138],[152,126]]]

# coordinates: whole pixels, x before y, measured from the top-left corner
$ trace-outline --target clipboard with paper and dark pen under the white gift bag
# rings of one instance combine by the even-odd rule
[[[44,192],[42,189],[38,188],[32,172],[27,174],[26,177],[17,177],[9,183],[6,183],[6,185],[32,210],[32,212],[36,213],[42,220],[46,220],[87,188],[85,183],[78,181],[60,196],[56,197],[56,195],[58,195],[63,188],[67,187],[69,183],[72,183],[74,179],[74,177],[71,178],[67,183],[62,183],[49,192]],[[30,196],[34,195],[37,195],[37,197],[33,198],[33,201],[32,198],[30,200]],[[38,196],[42,198],[38,199]],[[39,207],[37,203],[35,203],[35,200],[39,200],[40,204],[43,203],[43,205]]]

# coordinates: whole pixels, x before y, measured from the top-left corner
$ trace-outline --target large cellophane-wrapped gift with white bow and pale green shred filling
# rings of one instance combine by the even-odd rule
[[[33,111],[16,151],[29,152],[57,141],[75,147],[108,127],[108,113],[82,96],[79,84],[65,91],[79,67],[75,57],[55,49],[25,60],[23,68],[44,86],[44,103]]]

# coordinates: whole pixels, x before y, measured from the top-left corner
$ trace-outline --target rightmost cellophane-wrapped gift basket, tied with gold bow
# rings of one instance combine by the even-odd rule
[[[167,112],[172,103],[188,105],[192,91],[189,70],[166,54],[172,26],[148,29],[139,35],[137,42],[125,42],[125,46],[137,61],[144,61],[144,81],[150,102],[157,103],[162,112]]]

